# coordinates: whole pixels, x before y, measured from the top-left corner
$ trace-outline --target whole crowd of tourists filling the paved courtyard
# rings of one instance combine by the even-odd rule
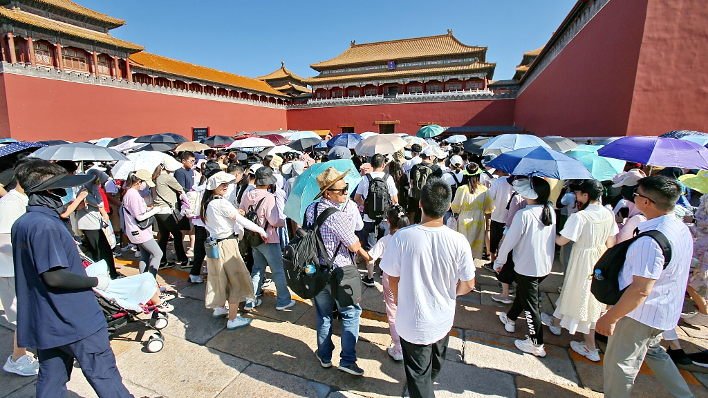
[[[675,328],[679,318],[708,324],[708,201],[678,180],[689,171],[627,163],[611,181],[559,181],[509,175],[489,166],[495,157],[447,142],[370,157],[346,147],[265,156],[210,149],[171,154],[125,180],[113,178],[111,163],[18,157],[0,181],[0,299],[17,323],[4,369],[39,373],[38,397],[62,396],[52,389],[66,394],[76,359],[99,397],[131,397],[97,292],[137,312],[170,312],[176,295],[156,277],[184,268],[191,283],[205,283],[213,316],[239,329],[271,283],[276,310],[296,304],[283,251],[302,239],[299,230],[316,227],[319,266],[332,270],[312,297],[313,360],[323,368],[332,366],[333,324],[341,322],[338,369],[364,375],[356,351],[362,285],[380,283],[387,353],[403,363],[411,397],[434,397],[457,296],[475,288],[481,259],[501,288],[493,300],[510,305],[499,314],[500,333],[526,319],[520,351],[546,356],[544,328],[566,329],[583,335],[571,349],[591,361],[601,359],[596,341],[606,341],[607,397],[629,397],[643,361],[674,397],[692,397],[675,363],[708,366],[708,354],[686,354]],[[298,176],[340,159],[358,171],[358,185],[346,182],[353,171],[324,165],[303,219],[287,217]],[[606,305],[591,291],[593,277],[602,278],[593,268],[623,242],[612,255],[624,256],[624,293]],[[139,274],[125,277],[114,258],[132,252]],[[546,313],[540,286],[556,255],[564,283]],[[98,262],[103,271],[87,275]],[[681,313],[686,292],[697,312]]]

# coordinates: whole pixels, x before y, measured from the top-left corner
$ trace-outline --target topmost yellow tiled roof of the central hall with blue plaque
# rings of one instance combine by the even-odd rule
[[[335,67],[346,64],[360,64],[362,62],[388,61],[391,59],[467,54],[484,50],[486,50],[486,47],[462,44],[462,42],[452,35],[452,30],[447,30],[447,35],[427,36],[425,38],[390,40],[365,44],[355,44],[355,42],[352,42],[351,47],[337,57],[329,59],[329,61],[312,64],[310,67],[317,69],[319,67]]]

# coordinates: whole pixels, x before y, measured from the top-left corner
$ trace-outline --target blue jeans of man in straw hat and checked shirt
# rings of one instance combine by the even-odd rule
[[[332,297],[329,285],[314,297],[314,308],[317,312],[317,355],[324,362],[332,360],[332,308],[336,303]],[[348,366],[356,362],[356,342],[359,339],[359,317],[361,307],[350,305],[339,307],[339,316],[342,319],[342,351],[339,360],[340,366]]]

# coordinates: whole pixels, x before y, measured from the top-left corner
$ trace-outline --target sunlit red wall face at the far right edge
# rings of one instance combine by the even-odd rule
[[[708,132],[707,5],[649,0],[627,135]]]

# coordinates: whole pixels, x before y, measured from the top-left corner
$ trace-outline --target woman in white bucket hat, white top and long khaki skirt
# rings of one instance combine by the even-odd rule
[[[239,240],[236,229],[246,227],[268,237],[263,228],[253,224],[223,198],[227,193],[229,184],[236,179],[231,174],[219,171],[207,178],[207,186],[202,196],[200,218],[211,238],[216,240],[217,258],[207,256],[207,292],[205,305],[214,309],[214,317],[228,315],[227,329],[233,330],[251,323],[239,315],[238,309],[241,302],[256,300],[251,284],[251,273],[246,269],[244,259],[239,251]],[[264,239],[265,239],[264,238]],[[229,306],[226,307],[227,302]],[[230,309],[230,311],[229,311]]]

